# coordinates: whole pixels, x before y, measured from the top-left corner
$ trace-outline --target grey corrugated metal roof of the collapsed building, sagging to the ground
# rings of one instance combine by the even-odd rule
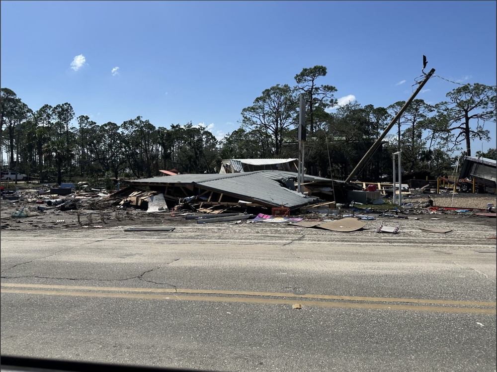
[[[231,194],[240,199],[258,200],[264,204],[297,208],[316,200],[282,186],[278,181],[296,179],[297,173],[285,171],[256,171],[232,174],[177,175],[174,177],[155,177],[128,181],[130,185],[140,184],[197,184],[200,187],[214,189]],[[304,182],[331,182],[330,179],[305,175]]]

